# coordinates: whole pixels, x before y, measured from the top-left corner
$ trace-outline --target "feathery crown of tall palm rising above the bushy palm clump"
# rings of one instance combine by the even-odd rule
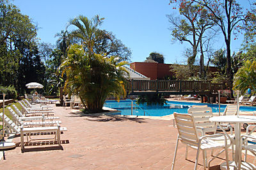
[[[76,26],[77,29],[70,32],[72,38],[77,38],[84,45],[88,51],[89,56],[92,56],[95,42],[97,38],[106,33],[98,29],[103,22],[104,18],[100,18],[99,15],[95,15],[91,20],[83,15],[79,15],[75,19],[68,21],[67,28],[69,26]]]

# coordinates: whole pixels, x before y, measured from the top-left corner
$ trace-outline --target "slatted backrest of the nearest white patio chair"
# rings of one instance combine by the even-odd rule
[[[173,113],[179,139],[182,143],[198,146],[198,134],[196,132],[195,120],[191,114]]]

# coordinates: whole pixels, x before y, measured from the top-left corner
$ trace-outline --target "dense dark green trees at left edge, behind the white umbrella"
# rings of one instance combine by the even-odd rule
[[[0,81],[24,93],[28,82],[43,82],[44,63],[38,52],[38,27],[9,1],[0,1]]]

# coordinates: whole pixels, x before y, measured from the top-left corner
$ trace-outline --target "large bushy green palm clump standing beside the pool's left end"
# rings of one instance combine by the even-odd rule
[[[125,96],[127,72],[118,58],[91,54],[82,45],[71,45],[60,68],[67,73],[65,88],[79,95],[89,112],[102,111],[107,97]]]

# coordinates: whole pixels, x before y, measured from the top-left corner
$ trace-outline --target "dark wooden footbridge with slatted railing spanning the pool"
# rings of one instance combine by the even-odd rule
[[[218,94],[225,89],[225,84],[211,81],[180,81],[180,80],[131,80],[131,95],[143,93],[164,93],[168,95],[210,95]]]

